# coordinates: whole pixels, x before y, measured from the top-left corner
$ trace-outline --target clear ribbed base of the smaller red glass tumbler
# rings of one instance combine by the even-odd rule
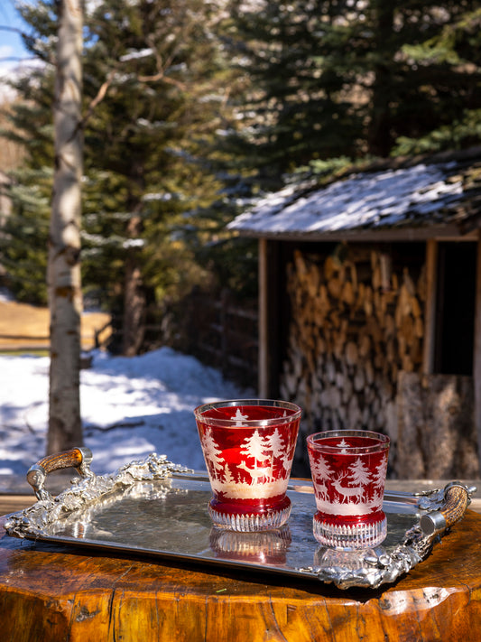
[[[319,544],[330,548],[373,548],[384,541],[387,535],[387,519],[374,524],[337,525],[314,516],[312,520],[314,537]]]

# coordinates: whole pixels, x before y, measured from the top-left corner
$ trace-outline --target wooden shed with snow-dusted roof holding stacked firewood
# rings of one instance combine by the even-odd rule
[[[388,433],[391,477],[478,477],[481,148],[287,186],[229,228],[259,239],[259,395],[303,435]]]

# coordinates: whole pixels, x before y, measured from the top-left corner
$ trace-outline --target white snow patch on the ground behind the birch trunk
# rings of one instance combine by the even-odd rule
[[[194,408],[254,394],[169,348],[134,358],[92,354],[92,367],[80,372],[80,409],[91,468],[98,474],[151,452],[204,469]],[[45,454],[49,362],[0,356],[0,480],[24,476]]]

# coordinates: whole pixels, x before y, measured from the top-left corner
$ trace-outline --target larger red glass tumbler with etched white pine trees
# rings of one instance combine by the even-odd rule
[[[286,524],[301,408],[286,401],[240,399],[200,405],[194,414],[214,525],[248,533]]]

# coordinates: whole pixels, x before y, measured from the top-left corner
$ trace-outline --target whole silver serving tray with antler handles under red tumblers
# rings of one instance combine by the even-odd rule
[[[384,543],[363,551],[338,551],[320,547],[312,535],[316,507],[309,481],[291,480],[288,495],[292,511],[287,526],[268,532],[234,533],[210,522],[211,492],[206,474],[153,453],[111,475],[95,476],[85,459],[88,449],[78,450],[84,456],[78,467],[82,478],[72,479],[71,488],[56,498],[43,487],[46,473],[42,465],[32,466],[27,479],[30,476],[39,499],[32,507],[8,516],[8,535],[110,553],[275,573],[286,579],[310,578],[332,582],[340,589],[377,588],[409,572],[464,514],[476,489],[452,482],[429,493],[386,490]],[[89,457],[91,460],[91,453]],[[453,507],[448,506],[450,490],[466,500],[455,507],[456,518]],[[446,507],[449,510],[443,510]]]

